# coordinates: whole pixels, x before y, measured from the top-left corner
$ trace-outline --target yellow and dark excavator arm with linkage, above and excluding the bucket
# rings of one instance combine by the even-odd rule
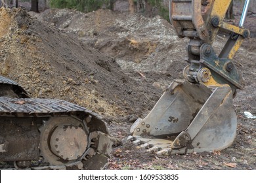
[[[232,58],[238,51],[249,31],[243,28],[245,10],[239,27],[223,22],[231,0],[173,0],[170,1],[170,20],[179,37],[188,37],[189,67],[184,69],[184,78],[190,82],[202,82],[206,86],[228,84],[232,92],[244,88],[242,76],[237,71]],[[212,47],[219,30],[230,33],[230,37],[219,56]]]

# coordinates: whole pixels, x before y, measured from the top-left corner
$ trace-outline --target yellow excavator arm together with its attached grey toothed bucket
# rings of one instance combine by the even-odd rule
[[[249,37],[244,20],[224,22],[231,0],[170,0],[169,15],[177,35],[187,37],[189,63],[184,80],[175,80],[144,119],[131,127],[130,141],[156,154],[186,154],[223,150],[236,137],[232,98],[244,88],[232,58]],[[217,55],[213,42],[220,30],[230,37]]]

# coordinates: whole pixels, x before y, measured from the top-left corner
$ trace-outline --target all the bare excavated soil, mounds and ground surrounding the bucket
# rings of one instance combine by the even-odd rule
[[[252,25],[255,16],[251,15]],[[58,98],[104,116],[110,132],[121,140],[129,127],[154,107],[186,65],[187,39],[179,39],[160,16],[117,14],[97,10],[0,9],[0,74],[16,80],[32,97]],[[250,27],[248,27],[250,28]],[[214,46],[219,51],[226,35]],[[237,136],[221,152],[156,157],[133,144],[117,147],[106,169],[256,169],[255,48],[247,39],[234,58],[245,79],[234,108]]]

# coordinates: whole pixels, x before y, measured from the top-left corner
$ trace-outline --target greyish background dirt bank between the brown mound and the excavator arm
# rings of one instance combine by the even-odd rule
[[[77,35],[82,42],[116,58],[123,70],[148,73],[154,69],[154,73],[177,76],[169,72],[168,67],[175,60],[181,60],[181,68],[184,66],[182,60],[188,40],[178,39],[172,25],[160,16],[146,18],[103,9],[87,14],[52,9],[33,16]],[[182,52],[184,54],[180,54]]]

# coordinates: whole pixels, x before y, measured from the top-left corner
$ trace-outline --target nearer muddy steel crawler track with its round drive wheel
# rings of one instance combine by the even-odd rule
[[[97,152],[98,131],[108,133],[101,116],[58,99],[0,97],[0,111],[0,161],[14,163],[0,169],[82,169]],[[16,155],[19,141],[31,145]]]

